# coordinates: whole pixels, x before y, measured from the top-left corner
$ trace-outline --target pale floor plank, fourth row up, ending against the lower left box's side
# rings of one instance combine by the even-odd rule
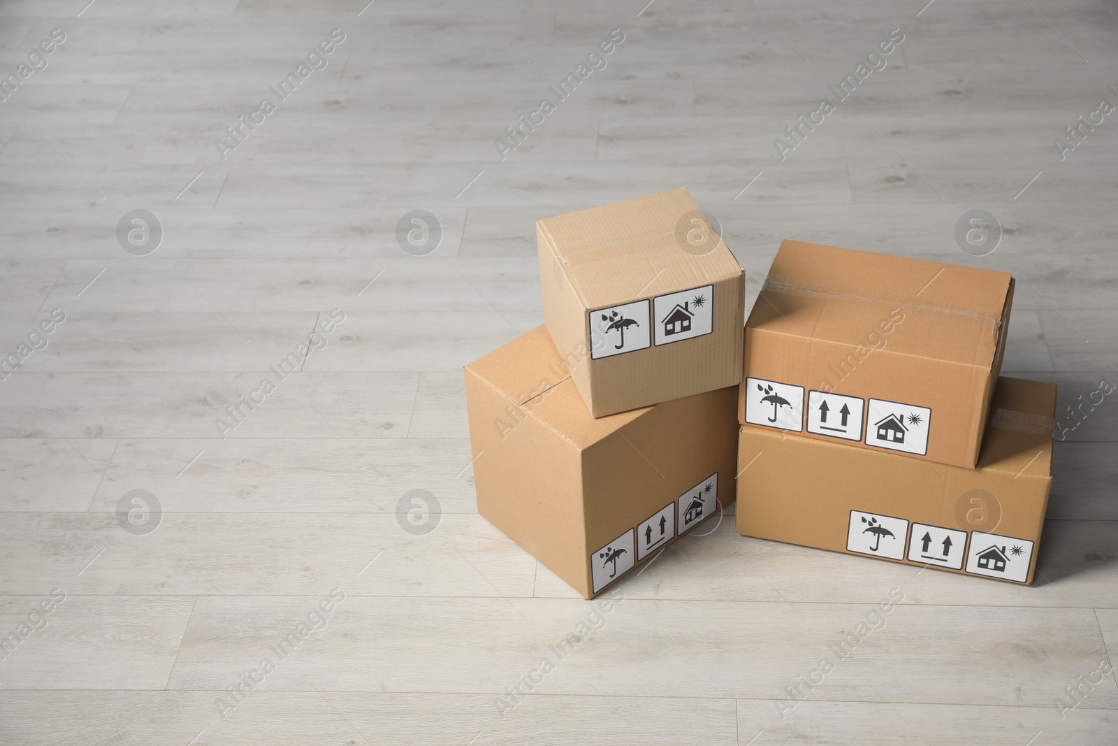
[[[0,441],[0,453],[35,453],[30,445],[19,447],[22,443]],[[100,443],[113,444],[75,445]],[[100,480],[65,441],[40,441],[37,448],[47,444],[65,456],[74,480],[84,476],[80,483],[87,488],[91,475]],[[85,501],[70,509],[92,504],[94,511],[114,511],[121,495],[144,489],[159,497],[167,512],[395,513],[406,492],[423,489],[435,494],[444,512],[473,514],[473,474],[463,471],[471,459],[465,438],[127,440],[116,446],[112,466],[107,456],[104,464],[94,461],[105,472],[100,489],[93,482],[96,499],[82,492]],[[15,466],[11,471],[22,479],[38,476],[32,481],[38,490],[47,476],[41,463],[28,455],[18,462],[18,472]],[[17,504],[28,504],[31,493],[30,487],[22,490]]]

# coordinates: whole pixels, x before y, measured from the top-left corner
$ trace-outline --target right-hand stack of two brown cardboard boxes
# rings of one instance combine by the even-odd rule
[[[746,323],[738,531],[1032,583],[1055,387],[999,378],[1012,300],[1004,273],[784,242]]]

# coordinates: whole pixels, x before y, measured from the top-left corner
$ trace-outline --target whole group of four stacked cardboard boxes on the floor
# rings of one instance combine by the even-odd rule
[[[735,498],[742,535],[1032,583],[1055,387],[999,377],[1012,276],[785,242],[742,334],[686,191],[537,228],[544,325],[465,368],[477,509],[584,597]]]

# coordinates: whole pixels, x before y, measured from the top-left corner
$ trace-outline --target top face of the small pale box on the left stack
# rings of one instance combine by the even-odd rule
[[[544,218],[541,237],[584,308],[598,309],[732,277],[741,265],[686,189]],[[707,239],[692,248],[688,235]]]

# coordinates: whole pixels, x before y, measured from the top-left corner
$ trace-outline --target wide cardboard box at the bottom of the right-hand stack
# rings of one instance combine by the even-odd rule
[[[1030,584],[1054,414],[1054,384],[1001,378],[977,469],[742,425],[738,532]]]

